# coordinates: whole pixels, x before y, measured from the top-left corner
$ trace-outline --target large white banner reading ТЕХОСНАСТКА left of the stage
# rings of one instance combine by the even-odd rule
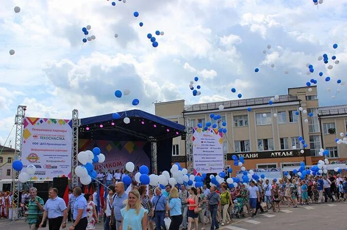
[[[32,180],[71,178],[72,121],[25,117],[21,159],[35,165]]]

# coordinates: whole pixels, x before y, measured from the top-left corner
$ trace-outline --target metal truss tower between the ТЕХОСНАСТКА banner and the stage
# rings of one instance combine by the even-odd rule
[[[80,119],[78,118],[78,110],[72,110],[72,158],[71,158],[71,181],[72,187],[78,185],[78,176],[75,169],[78,165],[78,130],[80,127]]]

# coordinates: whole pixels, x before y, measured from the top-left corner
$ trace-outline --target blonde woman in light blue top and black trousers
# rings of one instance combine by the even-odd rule
[[[178,190],[176,189],[176,187],[173,187],[170,190],[171,200],[168,201],[169,208],[170,208],[170,215],[171,215],[171,224],[168,230],[178,230],[179,225],[183,221],[182,211],[181,211],[182,204],[178,196],[179,196]]]

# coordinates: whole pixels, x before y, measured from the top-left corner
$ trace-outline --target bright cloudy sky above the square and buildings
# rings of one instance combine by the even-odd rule
[[[318,81],[320,106],[346,103],[347,86],[337,79],[347,81],[347,0],[324,0],[318,7],[312,0],[114,1],[116,6],[106,0],[2,1],[0,144],[8,139],[6,146],[10,140],[14,146],[19,105],[27,106],[26,116],[47,118],[70,119],[74,109],[80,118],[131,109],[154,113],[156,101],[287,94],[311,78]],[[91,35],[96,39],[83,43]],[[318,61],[324,53],[326,65]],[[310,75],[307,63],[314,67]],[[199,96],[189,89],[195,76]],[[115,97],[125,89],[129,95]]]

